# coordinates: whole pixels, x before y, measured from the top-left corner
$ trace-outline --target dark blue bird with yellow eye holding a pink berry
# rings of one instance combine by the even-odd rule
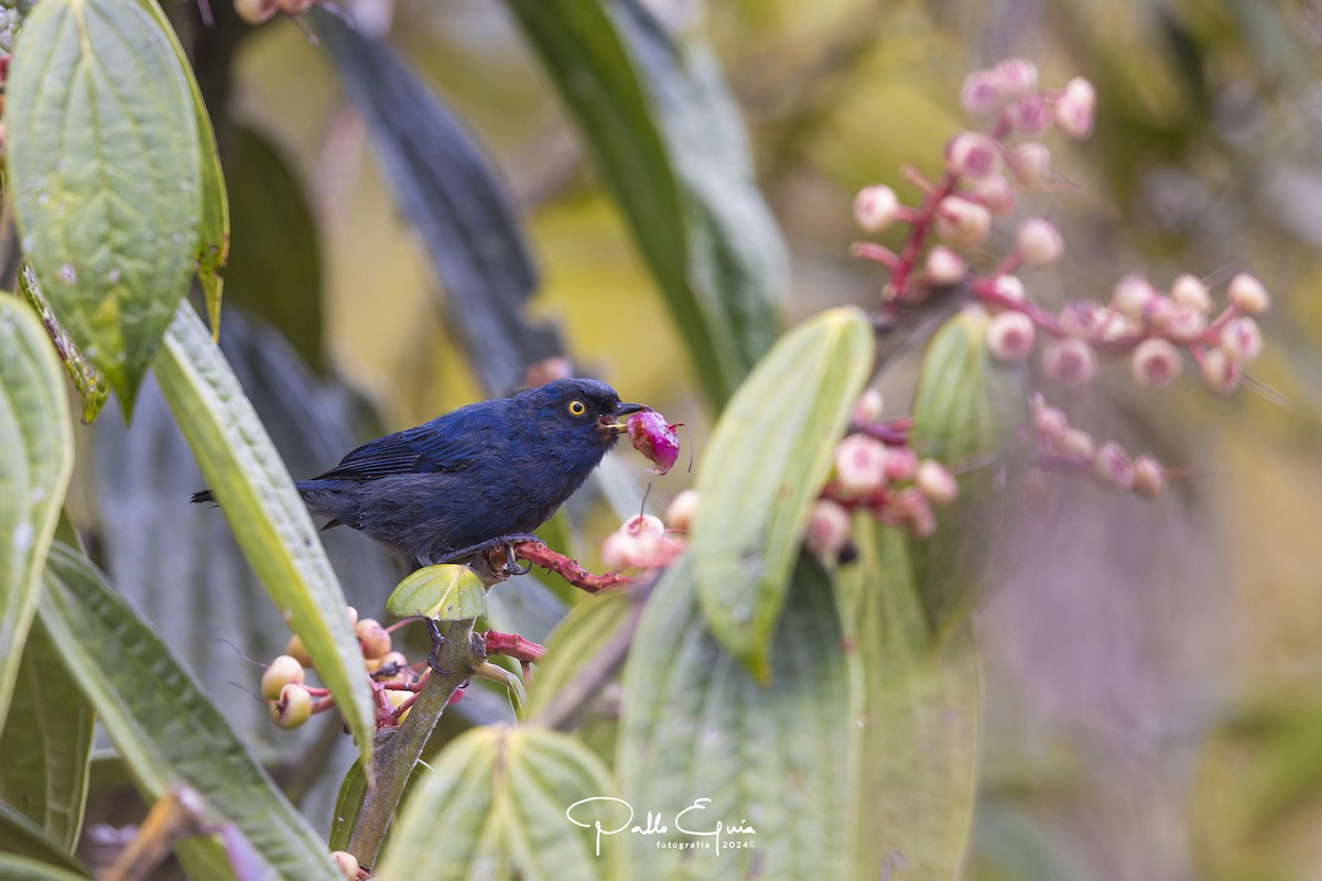
[[[619,440],[620,417],[641,409],[603,382],[559,379],[364,444],[295,487],[325,528],[360,530],[411,569],[432,565],[539,527]]]

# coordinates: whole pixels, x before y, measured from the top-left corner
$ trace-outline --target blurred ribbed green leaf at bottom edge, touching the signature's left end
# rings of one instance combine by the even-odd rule
[[[475,728],[414,781],[377,873],[428,881],[616,878],[619,864],[604,852],[596,857],[591,833],[566,818],[575,802],[612,793],[602,761],[564,734]]]

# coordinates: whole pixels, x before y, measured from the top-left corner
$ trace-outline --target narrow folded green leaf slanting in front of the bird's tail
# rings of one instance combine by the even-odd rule
[[[234,538],[307,647],[369,765],[371,695],[340,582],[253,404],[188,304],[165,334],[156,380]]]

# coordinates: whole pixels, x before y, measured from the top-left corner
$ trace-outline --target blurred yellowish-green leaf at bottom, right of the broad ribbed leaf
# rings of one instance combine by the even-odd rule
[[[969,629],[933,646],[907,536],[855,516],[859,559],[841,569],[859,771],[853,877],[960,877],[977,795],[981,684]]]

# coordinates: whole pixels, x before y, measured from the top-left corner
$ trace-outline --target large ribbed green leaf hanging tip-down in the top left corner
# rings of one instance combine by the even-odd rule
[[[171,37],[136,0],[26,17],[7,86],[22,250],[56,314],[131,411],[198,247],[197,122]]]

